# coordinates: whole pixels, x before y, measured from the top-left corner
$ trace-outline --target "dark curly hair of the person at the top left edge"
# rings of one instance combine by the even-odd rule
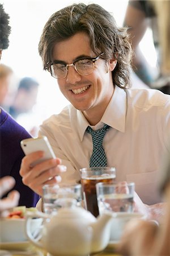
[[[11,27],[9,26],[10,16],[5,13],[3,5],[0,3],[0,49],[7,49],[9,46],[9,35]]]

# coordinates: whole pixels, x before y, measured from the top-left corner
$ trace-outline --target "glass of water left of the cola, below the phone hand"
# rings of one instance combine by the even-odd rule
[[[56,214],[57,210],[71,205],[81,206],[82,185],[81,184],[62,184],[49,185],[42,187],[43,209],[45,213]]]

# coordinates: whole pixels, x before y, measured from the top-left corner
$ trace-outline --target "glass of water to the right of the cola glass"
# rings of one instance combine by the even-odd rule
[[[133,212],[133,197],[135,184],[133,182],[103,182],[96,184],[97,204],[99,213],[104,210],[111,212]]]

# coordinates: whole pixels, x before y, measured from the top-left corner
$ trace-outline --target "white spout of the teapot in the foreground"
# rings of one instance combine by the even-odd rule
[[[96,222],[91,224],[93,232],[91,253],[104,250],[108,245],[110,234],[111,234],[111,212],[104,212],[97,217]]]

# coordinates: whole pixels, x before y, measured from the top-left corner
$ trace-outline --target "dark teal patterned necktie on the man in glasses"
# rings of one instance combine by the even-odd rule
[[[107,166],[107,158],[102,143],[104,135],[109,128],[109,125],[104,125],[103,128],[96,131],[92,130],[90,126],[86,129],[87,133],[91,134],[93,141],[93,152],[90,158],[90,167]]]

